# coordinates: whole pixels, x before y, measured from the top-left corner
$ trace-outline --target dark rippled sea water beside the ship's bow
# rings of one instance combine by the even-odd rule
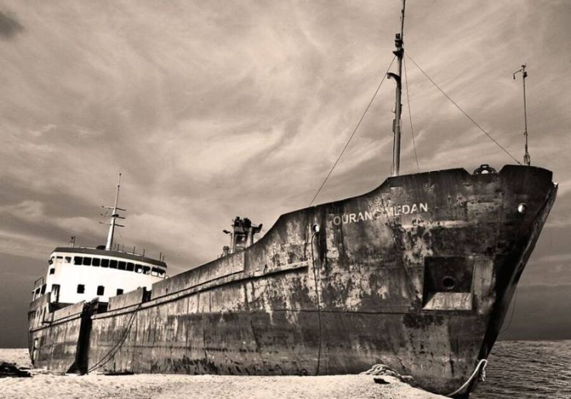
[[[500,341],[470,399],[570,399],[571,341]]]

